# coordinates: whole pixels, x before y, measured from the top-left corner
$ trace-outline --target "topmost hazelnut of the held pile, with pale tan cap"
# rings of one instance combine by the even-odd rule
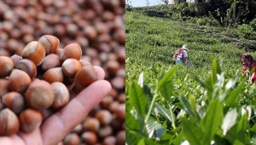
[[[43,44],[46,55],[55,54],[60,44],[60,40],[52,35],[44,35],[39,38],[38,42]]]

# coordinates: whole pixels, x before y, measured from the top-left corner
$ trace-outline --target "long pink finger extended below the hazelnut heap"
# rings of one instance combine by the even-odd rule
[[[82,90],[66,107],[46,119],[41,127],[44,144],[60,142],[76,125],[83,121],[90,110],[96,107],[110,90],[111,84],[108,81],[98,80]]]

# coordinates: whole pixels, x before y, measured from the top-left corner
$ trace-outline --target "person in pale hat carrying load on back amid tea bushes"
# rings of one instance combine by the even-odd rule
[[[175,64],[187,64],[188,63],[188,46],[186,44],[183,44],[183,47],[180,49],[177,49],[175,51],[175,54],[173,55],[173,61],[175,61]]]

